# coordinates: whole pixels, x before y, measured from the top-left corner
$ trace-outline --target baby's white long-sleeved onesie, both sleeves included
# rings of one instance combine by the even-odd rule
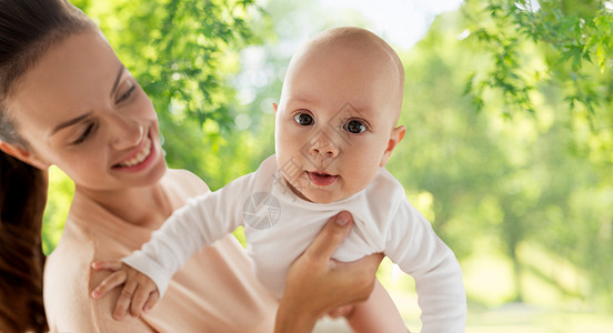
[[[466,300],[460,264],[384,168],[353,196],[313,203],[288,188],[272,155],[258,171],[188,200],[141,251],[123,262],[151,278],[163,295],[171,276],[191,255],[243,225],[258,278],[281,297],[291,263],[343,210],[351,212],[354,226],[333,258],[354,261],[383,252],[415,280],[422,332],[464,332]]]

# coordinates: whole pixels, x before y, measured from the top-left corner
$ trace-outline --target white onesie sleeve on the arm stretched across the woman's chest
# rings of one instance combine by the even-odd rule
[[[242,219],[237,202],[248,192],[245,175],[223,189],[191,198],[174,211],[140,251],[122,260],[149,276],[162,296],[172,275],[200,249],[237,229]]]

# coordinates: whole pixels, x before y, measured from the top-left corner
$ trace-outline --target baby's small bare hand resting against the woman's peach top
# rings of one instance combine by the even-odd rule
[[[151,279],[120,261],[96,261],[91,268],[97,271],[113,271],[91,292],[93,299],[102,299],[107,293],[123,284],[113,312],[113,317],[118,321],[123,319],[128,307],[130,307],[132,316],[147,313],[160,297],[158,287]]]

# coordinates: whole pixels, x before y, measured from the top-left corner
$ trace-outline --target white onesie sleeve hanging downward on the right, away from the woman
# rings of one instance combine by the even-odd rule
[[[422,333],[464,332],[462,269],[430,222],[406,200],[389,225],[385,255],[415,280]]]

